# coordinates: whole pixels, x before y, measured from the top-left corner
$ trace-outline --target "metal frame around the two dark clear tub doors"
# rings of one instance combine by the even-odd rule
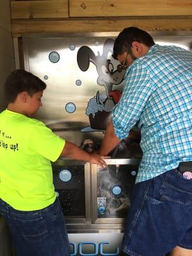
[[[140,164],[140,159],[106,159],[107,164]],[[97,218],[97,164],[60,157],[52,166],[84,165],[85,218],[65,216],[67,230],[77,232],[123,232],[124,218]]]

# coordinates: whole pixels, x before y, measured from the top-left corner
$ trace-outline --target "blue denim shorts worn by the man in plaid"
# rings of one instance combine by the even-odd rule
[[[164,256],[175,246],[192,255],[192,179],[177,169],[134,185],[123,239],[131,256]]]

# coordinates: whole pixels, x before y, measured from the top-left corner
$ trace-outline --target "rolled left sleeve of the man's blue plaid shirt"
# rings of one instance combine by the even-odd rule
[[[113,127],[120,140],[127,138],[129,131],[140,120],[151,93],[152,81],[147,68],[134,61],[127,70],[122,97],[113,109]]]

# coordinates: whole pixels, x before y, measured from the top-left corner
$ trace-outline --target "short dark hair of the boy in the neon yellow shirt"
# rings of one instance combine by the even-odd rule
[[[22,69],[11,72],[4,83],[4,95],[8,103],[13,103],[21,92],[33,95],[45,90],[46,84],[37,76]]]

